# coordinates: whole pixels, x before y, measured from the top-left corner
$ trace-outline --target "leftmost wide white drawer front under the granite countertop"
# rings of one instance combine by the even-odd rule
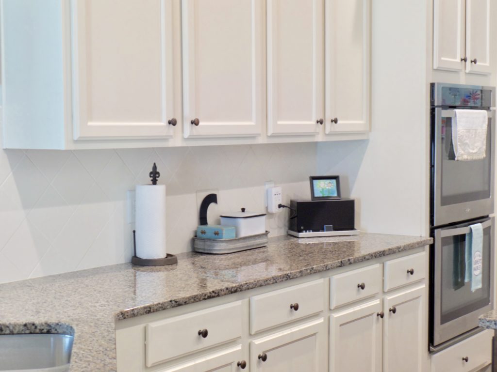
[[[202,330],[207,330],[206,337],[199,334]],[[152,367],[241,336],[241,301],[149,323],[145,334],[146,364]]]

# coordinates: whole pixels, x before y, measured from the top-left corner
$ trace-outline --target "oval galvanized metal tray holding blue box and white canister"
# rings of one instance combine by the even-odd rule
[[[193,249],[196,252],[211,254],[226,254],[242,250],[260,248],[267,245],[269,231],[262,234],[250,235],[235,239],[202,239],[193,238]]]

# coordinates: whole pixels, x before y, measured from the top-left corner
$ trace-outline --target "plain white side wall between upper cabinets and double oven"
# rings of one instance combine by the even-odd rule
[[[347,175],[363,231],[428,234],[427,2],[373,1],[370,138],[318,145],[318,173]]]

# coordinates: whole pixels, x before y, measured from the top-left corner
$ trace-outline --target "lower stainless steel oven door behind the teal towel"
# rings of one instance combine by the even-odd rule
[[[471,273],[466,264],[466,234],[474,223],[483,226],[482,288],[472,291],[471,279],[465,280],[466,270]],[[491,309],[493,232],[493,217],[435,231],[434,331],[439,342],[477,327],[478,316]]]

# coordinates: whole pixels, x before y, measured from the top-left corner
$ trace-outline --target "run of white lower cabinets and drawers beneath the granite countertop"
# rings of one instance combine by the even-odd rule
[[[425,252],[120,320],[117,371],[426,372]],[[477,349],[467,350],[471,365],[490,354]]]

